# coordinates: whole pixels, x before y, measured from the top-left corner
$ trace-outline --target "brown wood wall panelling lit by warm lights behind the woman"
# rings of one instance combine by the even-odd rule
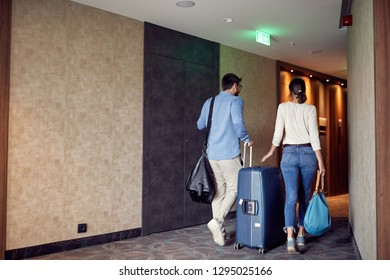
[[[296,69],[290,73],[288,68]],[[321,73],[279,62],[279,102],[289,101],[288,85],[296,77],[306,83],[307,104],[315,105],[317,116],[327,119],[325,134],[320,134],[322,156],[325,164],[325,192],[329,196],[348,193],[348,121],[347,121],[347,89],[324,82],[326,78],[335,79]],[[286,70],[287,69],[287,70]],[[299,71],[300,70],[300,71]],[[309,78],[307,73],[313,73]],[[340,80],[340,82],[346,81]],[[339,128],[338,120],[342,120]],[[278,162],[282,157],[282,149],[278,149]],[[313,182],[313,189],[315,182]]]

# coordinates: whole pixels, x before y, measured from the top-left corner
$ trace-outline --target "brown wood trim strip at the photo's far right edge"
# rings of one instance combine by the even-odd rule
[[[377,258],[390,259],[390,1],[374,0]]]

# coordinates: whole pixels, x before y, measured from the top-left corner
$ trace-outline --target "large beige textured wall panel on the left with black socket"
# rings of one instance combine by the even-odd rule
[[[14,0],[12,24],[6,249],[140,227],[143,23]]]

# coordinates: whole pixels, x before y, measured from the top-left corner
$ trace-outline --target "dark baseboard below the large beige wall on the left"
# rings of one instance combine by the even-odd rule
[[[5,251],[6,260],[30,259],[141,236],[141,228]]]

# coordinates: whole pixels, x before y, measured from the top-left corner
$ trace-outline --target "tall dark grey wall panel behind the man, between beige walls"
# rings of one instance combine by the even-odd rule
[[[211,206],[185,191],[204,134],[204,101],[219,91],[219,45],[145,23],[143,234],[205,223]]]

